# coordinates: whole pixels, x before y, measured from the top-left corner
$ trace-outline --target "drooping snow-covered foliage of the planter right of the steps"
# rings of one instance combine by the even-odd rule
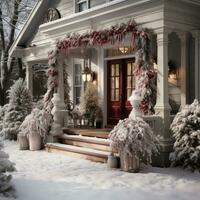
[[[129,156],[143,158],[151,163],[152,153],[157,153],[157,139],[150,126],[140,117],[120,120],[110,132],[111,147]]]

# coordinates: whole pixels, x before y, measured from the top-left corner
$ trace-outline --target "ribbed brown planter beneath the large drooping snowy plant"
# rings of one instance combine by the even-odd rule
[[[140,160],[135,156],[129,156],[125,152],[120,152],[120,164],[121,169],[125,172],[139,172]]]

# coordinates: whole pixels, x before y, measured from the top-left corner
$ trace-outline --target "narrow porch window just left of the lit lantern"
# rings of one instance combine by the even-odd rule
[[[77,63],[74,65],[74,103],[80,103],[82,92],[82,65]]]

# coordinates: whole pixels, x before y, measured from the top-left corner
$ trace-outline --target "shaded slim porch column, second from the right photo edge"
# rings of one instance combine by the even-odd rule
[[[181,41],[181,68],[180,68],[180,81],[181,81],[181,106],[186,105],[186,80],[187,80],[187,33],[178,33]]]

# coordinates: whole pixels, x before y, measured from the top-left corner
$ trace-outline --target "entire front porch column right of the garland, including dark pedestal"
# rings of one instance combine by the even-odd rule
[[[157,34],[157,101],[155,112],[158,117],[158,134],[161,136],[159,155],[153,158],[153,165],[168,167],[169,154],[173,149],[170,138],[170,110],[168,96],[168,30],[165,28],[156,31]]]

